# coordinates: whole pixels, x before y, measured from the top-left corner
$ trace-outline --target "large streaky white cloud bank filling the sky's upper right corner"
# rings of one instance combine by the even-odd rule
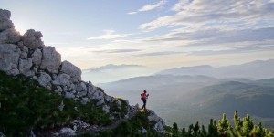
[[[250,26],[265,22],[272,23],[273,1],[256,0],[194,0],[179,1],[171,16],[160,16],[139,26],[142,30],[152,30],[163,26],[201,26],[216,24],[238,24]]]

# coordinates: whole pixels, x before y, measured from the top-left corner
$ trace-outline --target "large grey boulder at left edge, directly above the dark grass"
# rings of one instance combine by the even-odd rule
[[[13,44],[0,44],[0,70],[9,74],[15,71],[18,66],[20,50]],[[10,72],[9,72],[10,71]]]

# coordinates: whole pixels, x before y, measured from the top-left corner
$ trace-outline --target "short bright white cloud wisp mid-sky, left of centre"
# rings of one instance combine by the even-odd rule
[[[115,30],[103,30],[104,34],[99,37],[89,37],[87,40],[95,40],[95,39],[116,39],[120,37],[128,37],[131,34],[115,34]]]

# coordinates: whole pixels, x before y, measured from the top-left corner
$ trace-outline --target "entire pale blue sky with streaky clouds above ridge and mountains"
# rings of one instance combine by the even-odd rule
[[[274,58],[274,0],[0,0],[81,69],[227,66]]]

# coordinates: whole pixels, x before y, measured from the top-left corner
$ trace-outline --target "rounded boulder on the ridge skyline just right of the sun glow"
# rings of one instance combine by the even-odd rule
[[[29,29],[23,35],[24,45],[26,45],[29,49],[37,49],[38,47],[44,45],[41,37],[43,37],[41,32],[35,31],[34,29]]]

